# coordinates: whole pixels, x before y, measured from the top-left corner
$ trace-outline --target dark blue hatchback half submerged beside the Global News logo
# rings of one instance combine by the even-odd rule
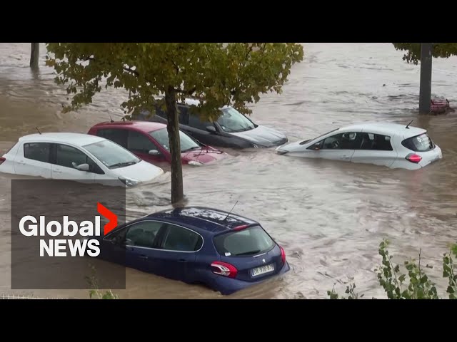
[[[221,294],[290,269],[261,224],[207,207],[156,212],[116,227],[101,240],[101,258]]]

